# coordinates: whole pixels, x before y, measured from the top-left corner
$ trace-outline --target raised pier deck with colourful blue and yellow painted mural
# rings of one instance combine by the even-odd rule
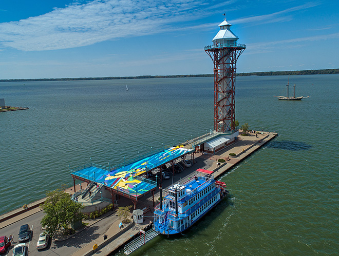
[[[75,192],[72,198],[77,201],[86,199],[88,202],[114,203],[119,196],[124,196],[129,198],[136,208],[141,196],[152,193],[154,203],[154,191],[157,189],[157,183],[162,182],[162,170],[166,168],[166,164],[171,163],[174,173],[175,161],[184,161],[186,155],[193,152],[192,147],[178,145],[159,149],[128,162],[124,161],[118,166],[102,166],[92,163],[90,159],[88,164],[69,168]],[[192,157],[194,159],[194,154]],[[156,181],[148,179],[151,171],[155,169],[159,170]],[[88,186],[84,190],[76,191],[76,180],[86,182]]]

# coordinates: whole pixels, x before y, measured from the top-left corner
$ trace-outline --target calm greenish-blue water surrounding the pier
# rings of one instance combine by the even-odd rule
[[[279,137],[222,178],[230,199],[135,255],[339,253],[339,75],[291,76],[300,102],[273,97],[287,80],[237,77],[240,125]],[[71,186],[69,164],[119,164],[213,127],[213,77],[0,83],[2,97],[29,110],[0,113],[0,213]]]

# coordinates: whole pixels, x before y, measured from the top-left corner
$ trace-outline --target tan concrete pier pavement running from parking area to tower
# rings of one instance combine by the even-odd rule
[[[257,136],[255,135],[257,134]],[[224,173],[231,170],[235,165],[237,165],[242,160],[246,159],[247,156],[251,155],[254,151],[258,150],[262,145],[266,144],[270,140],[272,140],[277,133],[274,132],[258,132],[252,133],[252,135],[248,136],[238,136],[238,140],[224,148],[223,150],[215,153],[215,154],[202,154],[195,153],[195,161],[196,163],[190,167],[185,168],[185,170],[181,173],[176,173],[170,180],[163,181],[163,187],[166,188],[171,186],[173,183],[184,182],[186,179],[189,179],[192,175],[194,175],[195,170],[198,168],[203,168],[207,170],[214,171],[214,177],[217,179]],[[235,156],[231,157],[229,154],[234,153]],[[227,160],[229,157],[229,160]],[[218,159],[226,160],[224,163],[218,163]],[[79,186],[79,185],[77,185]],[[77,188],[78,189],[78,188]],[[80,187],[79,187],[80,189]],[[158,191],[158,190],[157,190]],[[67,189],[67,192],[72,193],[71,188]],[[156,199],[158,204],[159,192],[155,193],[154,198]],[[0,216],[0,232],[10,225],[15,225],[16,222],[27,218],[30,215],[33,215],[36,212],[41,211],[39,205],[44,202],[44,199],[36,201],[34,203],[28,204],[27,209],[16,209],[9,213],[3,214]],[[124,198],[119,200],[119,206],[131,205],[131,202]],[[134,236],[139,234],[140,229],[147,228],[150,224],[153,223],[153,200],[152,195],[146,198],[142,198],[138,201],[137,204],[138,209],[148,208],[150,211],[145,212],[144,223],[141,225],[130,224],[126,225],[123,228],[119,228],[120,220],[116,214],[116,210],[112,212],[108,212],[102,215],[100,218],[95,220],[84,221],[88,223],[88,225],[80,230],[78,230],[75,234],[71,235],[67,239],[72,239],[72,241],[81,241],[81,233],[84,230],[90,229],[90,227],[107,227],[106,230],[102,233],[96,233],[96,239],[93,239],[91,242],[81,246],[81,248],[68,248],[69,254],[74,256],[80,255],[108,255],[111,252],[114,252],[121,248],[124,244],[126,244],[129,240],[133,239]],[[38,220],[37,220],[38,221]],[[18,227],[17,227],[18,228]],[[107,239],[104,240],[104,234],[107,235]],[[53,242],[55,243],[55,241]],[[93,245],[97,244],[98,249],[93,251]],[[34,246],[34,245],[33,245]],[[61,250],[62,248],[58,248]],[[58,251],[56,250],[56,252]],[[36,251],[30,250],[30,255],[47,255],[47,251],[42,251],[36,253]],[[61,253],[63,254],[63,253]]]

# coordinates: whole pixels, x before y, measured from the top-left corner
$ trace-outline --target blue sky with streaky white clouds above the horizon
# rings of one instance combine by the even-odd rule
[[[0,79],[213,73],[223,13],[237,72],[339,68],[334,0],[2,0]]]

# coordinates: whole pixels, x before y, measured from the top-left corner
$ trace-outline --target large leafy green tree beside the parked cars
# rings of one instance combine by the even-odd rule
[[[46,231],[51,235],[55,235],[62,227],[67,230],[72,222],[83,219],[81,209],[84,206],[71,200],[70,194],[56,189],[48,191],[46,195],[45,203],[40,206],[46,214],[41,225],[46,227]]]

